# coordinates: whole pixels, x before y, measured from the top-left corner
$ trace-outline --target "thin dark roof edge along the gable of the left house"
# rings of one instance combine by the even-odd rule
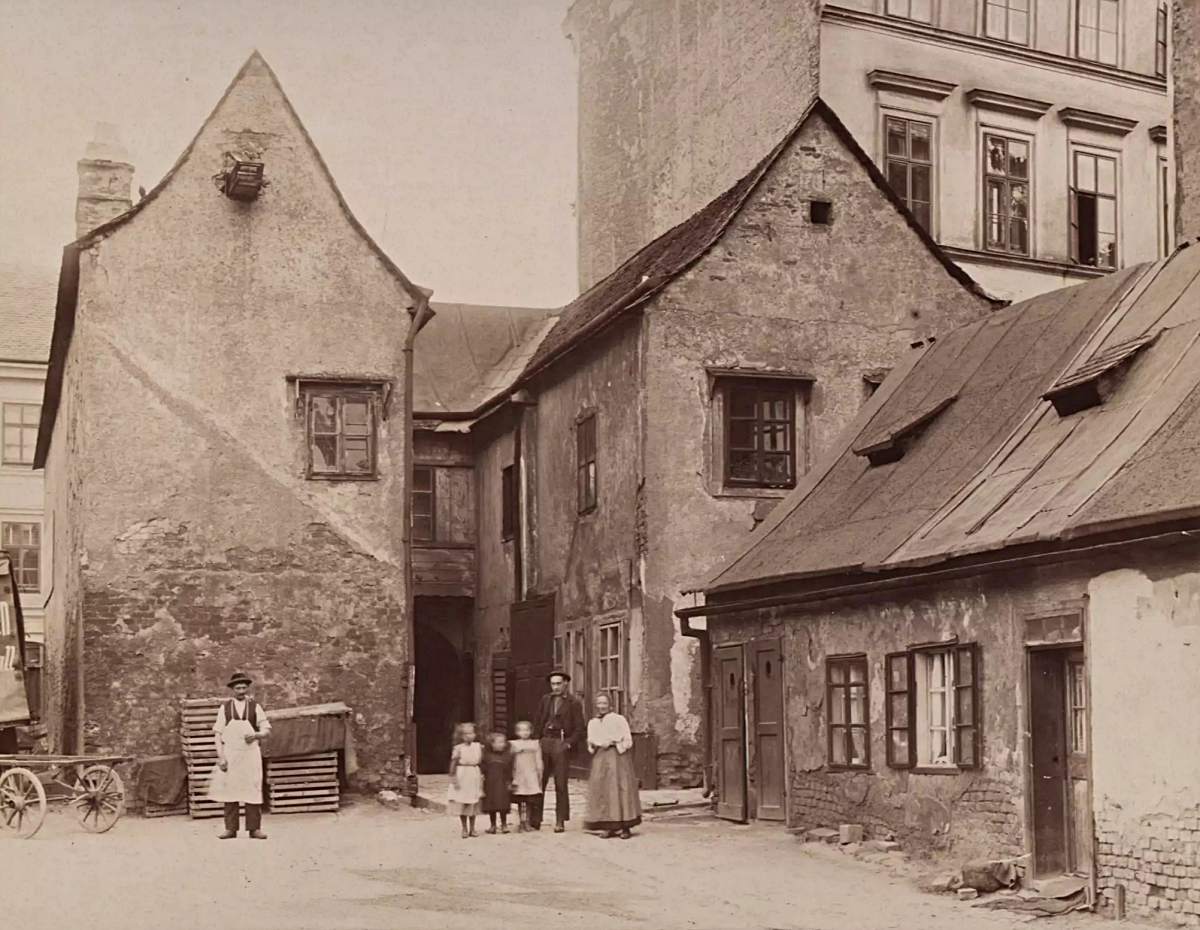
[[[248,59],[246,59],[246,64],[241,66],[234,79],[229,82],[229,86],[226,88],[224,94],[221,95],[221,100],[217,101],[217,104],[212,108],[212,112],[209,113],[208,118],[200,125],[199,131],[196,133],[194,137],[192,137],[192,140],[187,144],[187,148],[184,149],[182,154],[172,166],[170,170],[167,172],[166,175],[163,175],[163,179],[158,181],[158,184],[155,185],[155,187],[150,192],[148,192],[145,197],[138,200],[137,204],[126,210],[124,214],[115,217],[114,220],[110,220],[103,226],[96,227],[90,233],[80,236],[76,241],[64,247],[62,265],[59,271],[58,301],[54,313],[54,335],[53,338],[50,340],[50,360],[46,374],[46,394],[42,401],[42,420],[37,433],[37,450],[34,454],[34,468],[43,468],[46,466],[46,457],[49,454],[50,439],[54,433],[54,422],[58,418],[59,403],[61,402],[62,397],[62,376],[64,376],[64,368],[66,366],[67,353],[70,352],[71,348],[71,336],[74,332],[76,305],[79,296],[78,294],[79,253],[90,247],[91,245],[112,235],[114,232],[116,232],[122,226],[133,220],[133,217],[136,217],[139,212],[142,212],[146,206],[154,203],[155,199],[157,199],[157,197],[170,184],[172,179],[179,172],[180,167],[187,161],[188,156],[191,156],[192,149],[196,146],[196,143],[204,134],[204,131],[209,127],[209,124],[212,121],[216,114],[221,110],[221,107],[228,100],[234,88],[238,86],[238,84],[242,80],[244,77],[246,77],[248,72],[257,68],[260,68],[266,73],[271,83],[275,85],[275,89],[278,91],[284,107],[287,107],[288,114],[293,120],[295,120],[300,134],[304,137],[305,143],[307,143],[308,149],[311,150],[313,157],[317,161],[317,164],[320,167],[325,181],[329,185],[330,190],[334,192],[334,196],[337,199],[337,204],[341,208],[342,212],[344,214],[346,220],[349,222],[350,227],[354,229],[355,233],[358,233],[362,238],[362,240],[367,244],[371,251],[374,252],[376,256],[379,258],[379,262],[383,264],[383,266],[389,271],[389,274],[391,274],[392,277],[396,278],[400,286],[408,293],[414,305],[420,300],[422,300],[425,296],[427,296],[427,293],[424,292],[421,288],[419,288],[416,284],[414,284],[408,278],[408,276],[400,270],[400,266],[396,265],[396,263],[388,257],[388,253],[379,247],[378,242],[376,242],[374,239],[371,238],[371,234],[367,233],[367,230],[358,221],[358,217],[355,217],[354,214],[350,211],[349,205],[346,203],[346,198],[342,197],[342,192],[338,188],[337,182],[334,180],[334,175],[329,170],[329,166],[325,164],[325,160],[322,157],[320,151],[313,144],[312,137],[308,134],[308,130],[305,128],[304,121],[300,119],[299,114],[296,114],[295,108],[292,106],[292,101],[288,100],[288,95],[287,92],[284,92],[283,85],[280,84],[280,79],[275,76],[275,72],[271,71],[271,66],[268,65],[266,60],[262,56],[262,54],[259,54],[256,50],[250,55]]]

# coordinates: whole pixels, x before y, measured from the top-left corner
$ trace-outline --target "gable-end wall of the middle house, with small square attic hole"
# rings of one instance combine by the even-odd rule
[[[833,203],[832,226],[809,222],[814,198]],[[716,246],[649,305],[643,661],[654,676],[643,686],[661,710],[655,728],[685,746],[692,773],[701,764],[698,652],[672,612],[690,604],[682,592],[738,551],[756,510],[784,496],[722,487],[713,450],[724,433],[708,370],[815,379],[798,451],[803,470],[858,414],[866,372],[892,366],[913,341],[986,312],[986,301],[947,274],[817,119]]]

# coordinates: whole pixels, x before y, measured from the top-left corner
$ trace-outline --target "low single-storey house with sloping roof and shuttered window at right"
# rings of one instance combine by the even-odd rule
[[[913,353],[680,611],[724,816],[786,785],[794,824],[1094,866],[1200,923],[1169,710],[1200,698],[1198,274],[1182,247]]]

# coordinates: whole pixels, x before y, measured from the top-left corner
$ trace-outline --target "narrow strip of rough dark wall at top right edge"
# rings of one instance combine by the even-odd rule
[[[1175,241],[1200,236],[1200,0],[1171,11],[1171,100],[1175,122]]]

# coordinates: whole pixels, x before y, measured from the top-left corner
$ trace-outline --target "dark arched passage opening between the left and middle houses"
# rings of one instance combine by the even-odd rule
[[[445,773],[455,724],[469,720],[469,678],[463,655],[440,630],[416,623],[416,770]]]

